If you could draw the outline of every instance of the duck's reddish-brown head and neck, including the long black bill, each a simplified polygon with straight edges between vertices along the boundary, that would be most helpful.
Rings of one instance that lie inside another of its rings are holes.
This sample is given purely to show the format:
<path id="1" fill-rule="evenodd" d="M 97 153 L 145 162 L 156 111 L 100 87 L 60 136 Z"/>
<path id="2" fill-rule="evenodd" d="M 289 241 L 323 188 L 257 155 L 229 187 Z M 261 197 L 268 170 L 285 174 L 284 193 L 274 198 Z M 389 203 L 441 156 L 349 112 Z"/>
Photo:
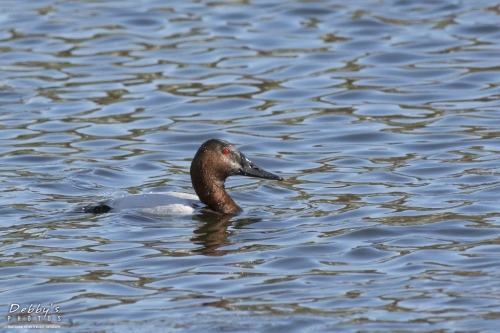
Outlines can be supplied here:
<path id="1" fill-rule="evenodd" d="M 224 140 L 205 141 L 191 163 L 191 181 L 200 200 L 211 209 L 225 214 L 241 208 L 224 189 L 226 178 L 234 175 L 283 180 L 250 161 L 242 152 Z"/>

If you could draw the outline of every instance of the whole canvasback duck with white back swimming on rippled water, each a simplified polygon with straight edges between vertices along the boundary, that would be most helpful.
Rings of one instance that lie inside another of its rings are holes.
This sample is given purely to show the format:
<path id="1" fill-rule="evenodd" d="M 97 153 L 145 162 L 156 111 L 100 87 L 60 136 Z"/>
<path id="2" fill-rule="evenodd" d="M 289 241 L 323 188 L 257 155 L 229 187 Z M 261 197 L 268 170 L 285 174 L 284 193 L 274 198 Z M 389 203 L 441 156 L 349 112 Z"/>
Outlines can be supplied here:
<path id="1" fill-rule="evenodd" d="M 191 162 L 191 182 L 197 196 L 179 192 L 130 195 L 82 208 L 85 213 L 107 213 L 121 209 L 136 209 L 158 215 L 191 214 L 200 202 L 222 214 L 237 214 L 241 207 L 224 188 L 226 178 L 234 175 L 283 180 L 263 170 L 227 141 L 205 141 Z"/>

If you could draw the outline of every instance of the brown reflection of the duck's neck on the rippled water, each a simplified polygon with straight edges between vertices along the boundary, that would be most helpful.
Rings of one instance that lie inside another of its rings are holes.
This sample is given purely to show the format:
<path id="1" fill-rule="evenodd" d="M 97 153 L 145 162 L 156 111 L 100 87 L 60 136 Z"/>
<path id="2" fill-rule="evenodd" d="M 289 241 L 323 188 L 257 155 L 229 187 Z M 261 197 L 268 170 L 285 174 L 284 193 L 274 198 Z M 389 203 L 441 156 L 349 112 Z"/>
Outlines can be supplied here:
<path id="1" fill-rule="evenodd" d="M 237 249 L 218 250 L 220 247 L 231 243 L 228 237 L 233 235 L 234 231 L 227 230 L 227 227 L 231 223 L 231 218 L 235 218 L 235 215 L 220 214 L 205 209 L 203 209 L 200 214 L 194 215 L 193 219 L 200 221 L 202 224 L 199 228 L 194 230 L 195 236 L 191 238 L 194 244 L 201 245 L 200 248 L 193 252 L 207 256 L 223 256 L 228 253 L 236 252 Z M 260 219 L 257 218 L 245 219 L 244 222 L 239 220 L 238 226 L 248 225 L 259 221 Z"/>

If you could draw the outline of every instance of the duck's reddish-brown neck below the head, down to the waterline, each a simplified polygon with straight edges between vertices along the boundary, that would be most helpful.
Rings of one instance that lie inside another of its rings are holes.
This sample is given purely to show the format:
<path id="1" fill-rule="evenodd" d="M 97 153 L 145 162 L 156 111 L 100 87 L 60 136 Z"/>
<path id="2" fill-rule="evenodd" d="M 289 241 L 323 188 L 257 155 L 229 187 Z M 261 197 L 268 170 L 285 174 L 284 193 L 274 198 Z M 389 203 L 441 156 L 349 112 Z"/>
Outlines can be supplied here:
<path id="1" fill-rule="evenodd" d="M 212 181 L 210 181 L 212 179 Z M 224 181 L 215 181 L 212 177 L 192 179 L 193 187 L 201 202 L 222 214 L 236 214 L 243 211 L 229 196 L 224 188 Z"/>

